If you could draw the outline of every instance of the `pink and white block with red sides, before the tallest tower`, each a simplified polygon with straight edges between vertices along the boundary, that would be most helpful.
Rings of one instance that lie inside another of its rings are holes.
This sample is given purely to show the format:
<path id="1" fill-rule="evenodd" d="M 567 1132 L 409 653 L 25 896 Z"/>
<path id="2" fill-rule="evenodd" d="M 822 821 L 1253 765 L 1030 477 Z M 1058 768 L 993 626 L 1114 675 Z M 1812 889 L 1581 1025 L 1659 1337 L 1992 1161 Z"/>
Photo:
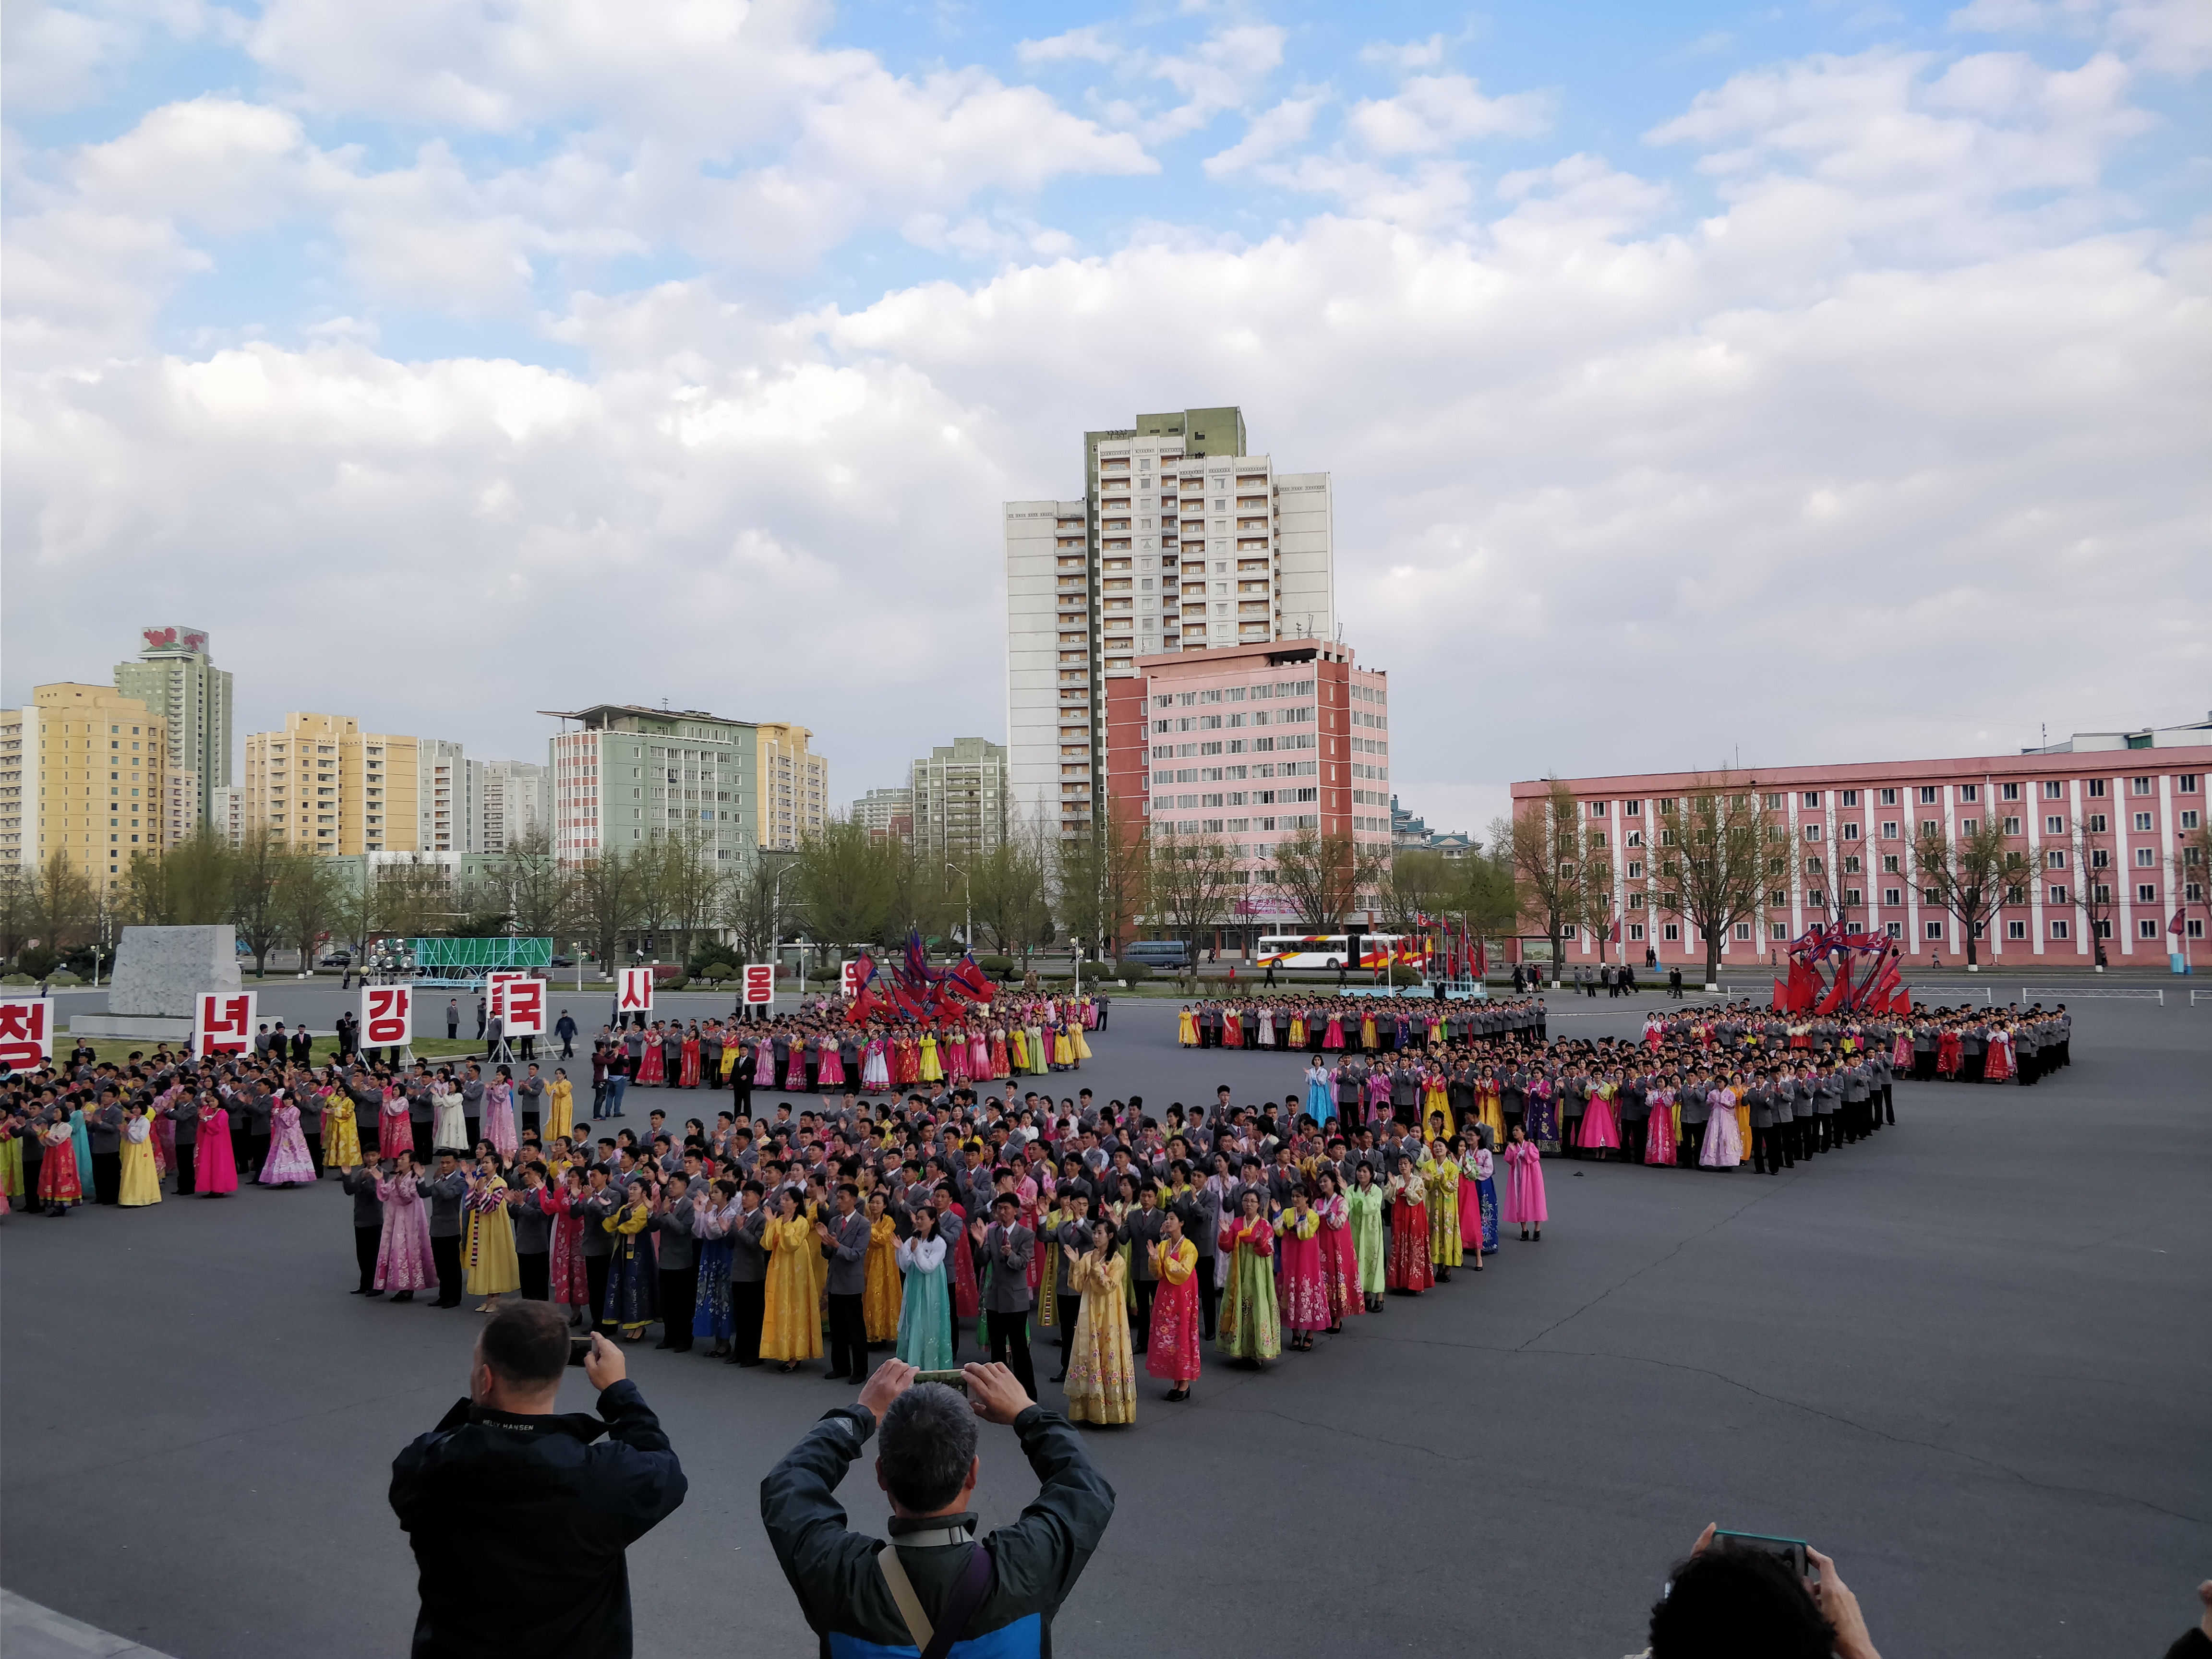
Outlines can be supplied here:
<path id="1" fill-rule="evenodd" d="M 1343 834 L 1389 858 L 1389 677 L 1360 668 L 1352 646 L 1144 657 L 1108 692 L 1115 810 L 1130 827 L 1219 836 L 1243 854 L 1252 920 L 1296 916 L 1267 876 L 1285 834 Z"/>

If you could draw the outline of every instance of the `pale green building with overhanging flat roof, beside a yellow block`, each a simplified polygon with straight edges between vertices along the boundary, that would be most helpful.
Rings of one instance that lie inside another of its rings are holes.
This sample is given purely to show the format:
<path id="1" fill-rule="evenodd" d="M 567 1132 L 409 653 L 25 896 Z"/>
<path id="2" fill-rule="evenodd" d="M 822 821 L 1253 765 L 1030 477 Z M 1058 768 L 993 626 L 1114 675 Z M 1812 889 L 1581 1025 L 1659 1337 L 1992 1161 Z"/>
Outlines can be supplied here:
<path id="1" fill-rule="evenodd" d="M 728 863 L 765 843 L 754 770 L 761 728 L 752 721 L 622 703 L 540 712 L 575 721 L 546 748 L 553 852 L 562 863 L 635 852 L 670 834 L 699 836 Z"/>

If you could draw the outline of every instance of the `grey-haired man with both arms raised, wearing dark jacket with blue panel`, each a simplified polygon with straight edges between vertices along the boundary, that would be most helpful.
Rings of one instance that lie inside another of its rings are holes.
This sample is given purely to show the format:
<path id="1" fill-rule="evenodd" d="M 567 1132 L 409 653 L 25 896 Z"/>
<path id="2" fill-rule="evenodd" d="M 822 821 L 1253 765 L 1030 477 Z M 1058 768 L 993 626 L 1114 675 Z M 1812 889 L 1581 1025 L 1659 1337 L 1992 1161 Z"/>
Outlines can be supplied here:
<path id="1" fill-rule="evenodd" d="M 1004 1365 L 962 1367 L 967 1398 L 885 1360 L 854 1405 L 832 1409 L 761 1482 L 761 1524 L 823 1655 L 958 1641 L 993 1655 L 1053 1650 L 1053 1615 L 1113 1520 L 1115 1493 L 1066 1418 L 1035 1405 Z M 1040 1491 L 1011 1526 L 975 1535 L 975 1420 L 1006 1425 Z M 836 1489 L 876 1438 L 891 1500 L 889 1544 L 849 1531 Z"/>

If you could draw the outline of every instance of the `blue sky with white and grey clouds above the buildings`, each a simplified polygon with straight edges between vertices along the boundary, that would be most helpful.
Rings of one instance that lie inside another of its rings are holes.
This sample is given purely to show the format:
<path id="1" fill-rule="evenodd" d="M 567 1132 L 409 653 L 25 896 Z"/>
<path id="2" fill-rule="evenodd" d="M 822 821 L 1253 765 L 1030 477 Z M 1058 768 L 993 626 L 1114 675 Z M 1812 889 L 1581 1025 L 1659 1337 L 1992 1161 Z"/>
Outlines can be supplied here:
<path id="1" fill-rule="evenodd" d="M 0 699 L 1004 739 L 1000 502 L 1234 403 L 1394 787 L 2212 710 L 2212 4 L 4 7 Z"/>

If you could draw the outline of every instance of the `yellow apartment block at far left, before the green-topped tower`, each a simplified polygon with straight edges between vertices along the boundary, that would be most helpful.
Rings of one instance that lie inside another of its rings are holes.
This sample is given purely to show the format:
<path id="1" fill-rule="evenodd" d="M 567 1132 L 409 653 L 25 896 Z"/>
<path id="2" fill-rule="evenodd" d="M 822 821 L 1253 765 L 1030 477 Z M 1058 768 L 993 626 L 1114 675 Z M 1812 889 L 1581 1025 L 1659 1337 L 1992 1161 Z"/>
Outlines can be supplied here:
<path id="1" fill-rule="evenodd" d="M 113 686 L 33 686 L 13 730 L 20 863 L 62 856 L 104 891 L 133 854 L 168 845 L 168 726 L 137 697 Z"/>

